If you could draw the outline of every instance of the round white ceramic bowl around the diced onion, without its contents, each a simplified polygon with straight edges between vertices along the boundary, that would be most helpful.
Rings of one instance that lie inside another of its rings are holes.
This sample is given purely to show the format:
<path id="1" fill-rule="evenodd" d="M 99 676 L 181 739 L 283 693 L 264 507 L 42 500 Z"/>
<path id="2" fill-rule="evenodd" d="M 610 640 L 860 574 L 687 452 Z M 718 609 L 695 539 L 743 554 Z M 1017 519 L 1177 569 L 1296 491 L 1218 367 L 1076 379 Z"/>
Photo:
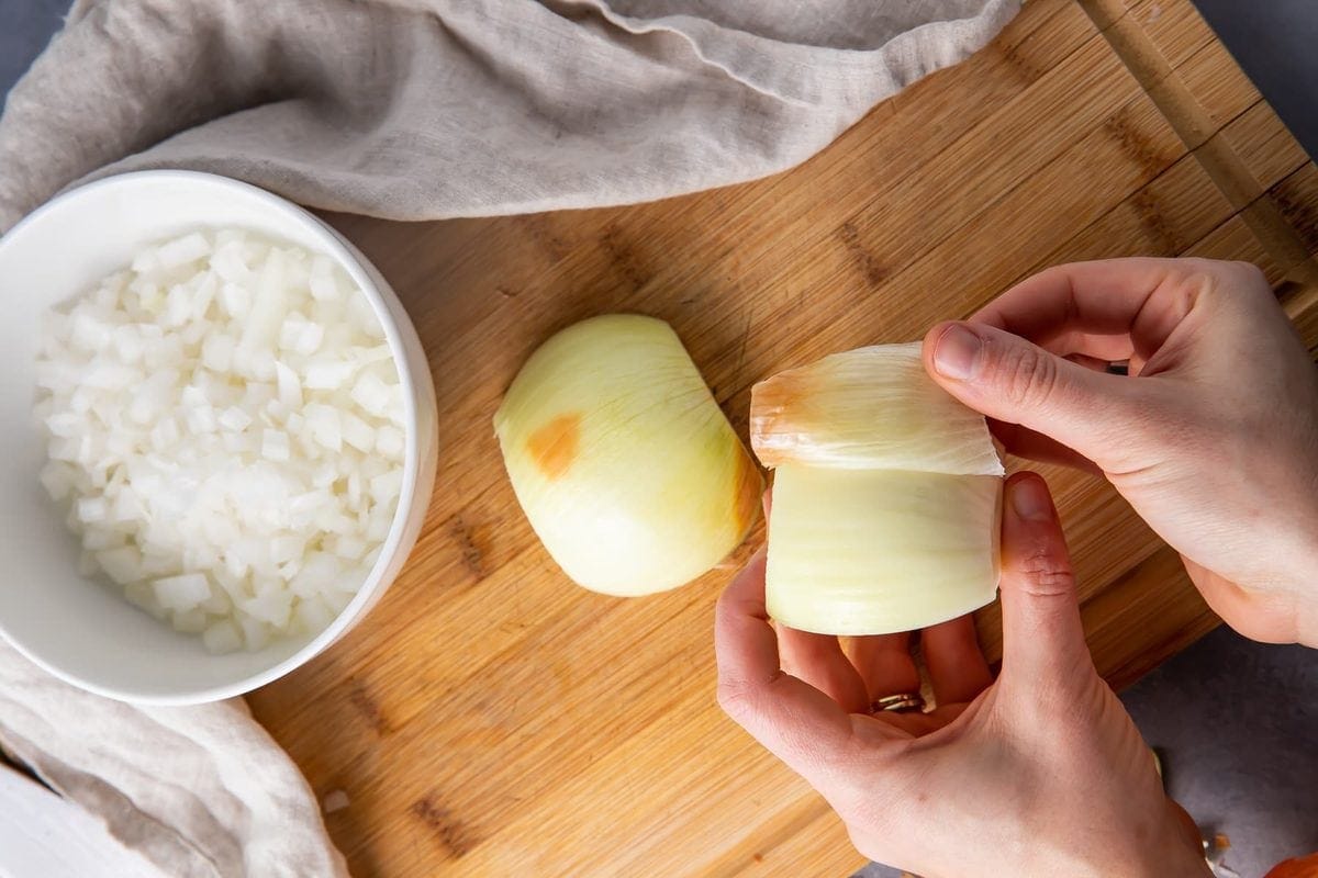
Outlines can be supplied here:
<path id="1" fill-rule="evenodd" d="M 45 440 L 32 416 L 41 315 L 130 262 L 141 247 L 199 228 L 243 228 L 333 258 L 370 297 L 407 403 L 403 487 L 393 529 L 361 591 L 315 637 L 211 656 L 108 587 L 78 575 L 78 544 L 37 480 Z M 142 171 L 54 199 L 0 238 L 0 633 L 82 688 L 129 702 L 195 704 L 287 674 L 361 620 L 397 577 L 430 503 L 436 412 L 426 354 L 380 272 L 333 229 L 264 190 L 211 174 Z"/>

